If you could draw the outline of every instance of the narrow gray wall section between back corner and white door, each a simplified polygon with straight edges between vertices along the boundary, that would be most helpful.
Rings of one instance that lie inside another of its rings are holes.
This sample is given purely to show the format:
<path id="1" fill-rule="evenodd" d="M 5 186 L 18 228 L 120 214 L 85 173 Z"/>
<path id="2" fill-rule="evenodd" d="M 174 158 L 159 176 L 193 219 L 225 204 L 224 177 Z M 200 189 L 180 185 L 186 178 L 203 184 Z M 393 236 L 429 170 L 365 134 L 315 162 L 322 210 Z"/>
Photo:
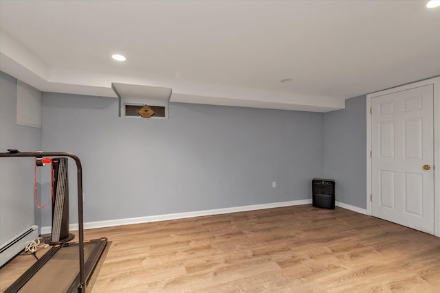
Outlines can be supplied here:
<path id="1" fill-rule="evenodd" d="M 366 209 L 366 96 L 323 116 L 323 176 L 336 180 L 336 200 Z"/>

